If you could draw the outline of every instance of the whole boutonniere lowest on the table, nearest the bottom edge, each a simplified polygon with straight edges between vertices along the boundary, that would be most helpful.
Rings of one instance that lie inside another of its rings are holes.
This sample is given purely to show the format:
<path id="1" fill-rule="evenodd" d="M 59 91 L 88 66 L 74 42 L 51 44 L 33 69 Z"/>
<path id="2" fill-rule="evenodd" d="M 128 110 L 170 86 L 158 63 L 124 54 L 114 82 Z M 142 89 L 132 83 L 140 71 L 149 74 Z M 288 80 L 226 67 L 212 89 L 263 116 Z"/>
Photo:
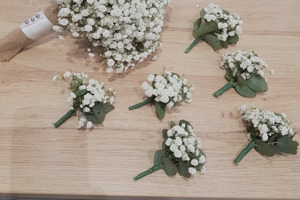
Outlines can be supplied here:
<path id="1" fill-rule="evenodd" d="M 201 140 L 195 138 L 192 125 L 186 120 L 175 124 L 171 128 L 163 129 L 163 147 L 154 154 L 153 167 L 140 173 L 133 179 L 136 181 L 159 169 L 163 169 L 168 176 L 177 172 L 185 178 L 191 174 L 205 173 L 206 156 L 201 150 Z"/>

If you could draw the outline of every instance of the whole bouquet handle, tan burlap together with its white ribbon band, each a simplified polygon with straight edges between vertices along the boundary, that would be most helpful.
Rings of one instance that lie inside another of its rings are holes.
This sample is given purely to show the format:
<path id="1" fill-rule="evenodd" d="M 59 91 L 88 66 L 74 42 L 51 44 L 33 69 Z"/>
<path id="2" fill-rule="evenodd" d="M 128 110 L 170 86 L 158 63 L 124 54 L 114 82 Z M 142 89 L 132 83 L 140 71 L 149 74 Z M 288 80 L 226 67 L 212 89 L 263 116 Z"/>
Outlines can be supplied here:
<path id="1" fill-rule="evenodd" d="M 12 59 L 35 38 L 58 23 L 58 4 L 54 4 L 25 20 L 20 27 L 0 39 L 0 61 Z M 46 24 L 47 23 L 47 24 Z"/>

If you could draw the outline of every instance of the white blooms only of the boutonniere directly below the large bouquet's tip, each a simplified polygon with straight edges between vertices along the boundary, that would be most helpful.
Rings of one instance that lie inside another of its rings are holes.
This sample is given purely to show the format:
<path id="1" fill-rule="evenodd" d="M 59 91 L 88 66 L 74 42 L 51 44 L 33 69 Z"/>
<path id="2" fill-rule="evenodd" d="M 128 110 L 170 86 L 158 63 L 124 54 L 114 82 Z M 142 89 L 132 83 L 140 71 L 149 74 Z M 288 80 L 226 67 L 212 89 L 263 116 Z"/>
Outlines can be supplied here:
<path id="1" fill-rule="evenodd" d="M 187 78 L 180 78 L 177 74 L 167 71 L 163 76 L 150 74 L 147 79 L 151 84 L 147 82 L 142 84 L 142 89 L 147 97 L 166 103 L 168 108 L 173 107 L 174 103 L 182 101 L 183 97 L 187 103 L 192 103 L 194 86 L 186 85 Z"/>

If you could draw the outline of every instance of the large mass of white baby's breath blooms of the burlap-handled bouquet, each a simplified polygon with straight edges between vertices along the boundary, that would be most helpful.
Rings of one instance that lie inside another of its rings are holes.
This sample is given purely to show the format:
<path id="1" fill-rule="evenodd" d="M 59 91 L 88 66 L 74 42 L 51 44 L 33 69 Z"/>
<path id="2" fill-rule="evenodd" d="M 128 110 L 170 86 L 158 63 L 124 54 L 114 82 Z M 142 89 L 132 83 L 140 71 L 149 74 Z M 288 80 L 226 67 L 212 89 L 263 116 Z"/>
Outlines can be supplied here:
<path id="1" fill-rule="evenodd" d="M 63 32 L 66 26 L 73 37 L 88 37 L 93 49 L 104 47 L 103 58 L 107 61 L 107 72 L 122 73 L 124 69 L 143 62 L 162 47 L 160 32 L 163 27 L 165 8 L 171 0 L 58 0 L 58 13 Z M 61 39 L 63 37 L 59 36 Z M 90 57 L 95 54 L 89 52 Z"/>

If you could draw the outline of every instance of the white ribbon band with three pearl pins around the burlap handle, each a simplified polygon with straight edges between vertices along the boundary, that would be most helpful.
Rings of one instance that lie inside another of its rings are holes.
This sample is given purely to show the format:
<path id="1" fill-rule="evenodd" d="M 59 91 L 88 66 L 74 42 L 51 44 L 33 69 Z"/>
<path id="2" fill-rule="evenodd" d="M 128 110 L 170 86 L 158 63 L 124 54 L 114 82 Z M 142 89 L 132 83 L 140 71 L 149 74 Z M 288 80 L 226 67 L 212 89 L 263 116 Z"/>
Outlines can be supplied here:
<path id="1" fill-rule="evenodd" d="M 34 19 L 34 21 L 31 19 Z M 51 30 L 53 27 L 53 24 L 47 19 L 43 10 L 27 19 L 25 22 L 23 22 L 19 28 L 32 40 L 41 36 L 44 32 Z"/>

